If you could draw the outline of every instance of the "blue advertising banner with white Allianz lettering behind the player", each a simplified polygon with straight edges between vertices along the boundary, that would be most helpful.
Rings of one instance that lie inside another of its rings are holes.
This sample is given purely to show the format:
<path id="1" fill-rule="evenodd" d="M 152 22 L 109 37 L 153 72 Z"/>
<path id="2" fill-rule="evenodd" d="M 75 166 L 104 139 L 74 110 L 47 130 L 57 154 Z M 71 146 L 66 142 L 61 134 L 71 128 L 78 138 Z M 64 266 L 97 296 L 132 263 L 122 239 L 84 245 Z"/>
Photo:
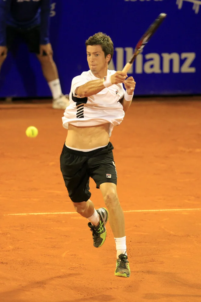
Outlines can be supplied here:
<path id="1" fill-rule="evenodd" d="M 50 38 L 63 93 L 69 93 L 73 77 L 89 69 L 89 36 L 102 31 L 111 37 L 115 52 L 109 69 L 122 70 L 149 25 L 167 13 L 129 70 L 135 95 L 201 94 L 200 5 L 199 0 L 56 0 Z M 39 62 L 20 44 L 2 66 L 0 97 L 50 95 Z"/>

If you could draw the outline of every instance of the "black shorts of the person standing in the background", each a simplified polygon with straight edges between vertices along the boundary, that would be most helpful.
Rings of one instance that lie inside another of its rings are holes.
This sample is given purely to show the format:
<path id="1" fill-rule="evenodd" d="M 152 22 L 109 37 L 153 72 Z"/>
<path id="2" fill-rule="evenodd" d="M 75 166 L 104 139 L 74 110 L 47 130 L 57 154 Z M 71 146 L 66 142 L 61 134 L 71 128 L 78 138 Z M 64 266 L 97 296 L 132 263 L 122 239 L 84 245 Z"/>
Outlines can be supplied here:
<path id="1" fill-rule="evenodd" d="M 28 46 L 30 52 L 40 53 L 40 25 L 31 28 L 19 28 L 13 26 L 6 27 L 6 46 L 8 50 L 16 38 L 21 38 Z"/>

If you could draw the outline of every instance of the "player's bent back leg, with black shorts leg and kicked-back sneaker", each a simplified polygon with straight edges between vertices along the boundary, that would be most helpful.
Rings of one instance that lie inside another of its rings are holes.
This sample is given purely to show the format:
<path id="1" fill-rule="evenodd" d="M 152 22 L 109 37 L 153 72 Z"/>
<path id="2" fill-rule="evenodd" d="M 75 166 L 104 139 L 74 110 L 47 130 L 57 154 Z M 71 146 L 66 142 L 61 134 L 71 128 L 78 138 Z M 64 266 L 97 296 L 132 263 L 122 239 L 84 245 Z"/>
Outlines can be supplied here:
<path id="1" fill-rule="evenodd" d="M 77 213 L 87 218 L 88 226 L 92 231 L 93 245 L 100 247 L 106 238 L 105 224 L 108 220 L 106 209 L 94 209 L 89 199 L 89 174 L 87 161 L 89 152 L 81 152 L 67 148 L 65 145 L 60 156 L 60 167 L 69 197 Z"/>

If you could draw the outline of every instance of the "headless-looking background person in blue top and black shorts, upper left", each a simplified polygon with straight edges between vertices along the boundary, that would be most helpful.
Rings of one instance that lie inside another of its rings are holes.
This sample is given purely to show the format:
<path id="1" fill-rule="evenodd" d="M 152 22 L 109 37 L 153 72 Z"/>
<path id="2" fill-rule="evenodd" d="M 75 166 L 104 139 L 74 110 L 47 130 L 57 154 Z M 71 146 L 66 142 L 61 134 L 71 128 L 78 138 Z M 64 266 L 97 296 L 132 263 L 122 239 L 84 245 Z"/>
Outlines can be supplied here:
<path id="1" fill-rule="evenodd" d="M 15 38 L 21 36 L 39 59 L 50 87 L 55 109 L 64 109 L 69 99 L 62 94 L 49 41 L 51 0 L 0 0 L 0 68 Z"/>

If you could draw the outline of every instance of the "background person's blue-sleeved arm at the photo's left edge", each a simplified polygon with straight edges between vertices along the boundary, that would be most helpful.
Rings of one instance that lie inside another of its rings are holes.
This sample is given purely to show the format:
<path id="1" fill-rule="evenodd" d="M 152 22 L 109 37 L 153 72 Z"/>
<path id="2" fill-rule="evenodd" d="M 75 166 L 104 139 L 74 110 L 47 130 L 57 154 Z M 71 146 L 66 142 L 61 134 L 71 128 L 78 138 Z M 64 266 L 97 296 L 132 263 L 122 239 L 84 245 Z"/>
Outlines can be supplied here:
<path id="1" fill-rule="evenodd" d="M 11 5 L 11 0 L 0 0 L 0 56 L 6 56 L 6 18 Z"/>

